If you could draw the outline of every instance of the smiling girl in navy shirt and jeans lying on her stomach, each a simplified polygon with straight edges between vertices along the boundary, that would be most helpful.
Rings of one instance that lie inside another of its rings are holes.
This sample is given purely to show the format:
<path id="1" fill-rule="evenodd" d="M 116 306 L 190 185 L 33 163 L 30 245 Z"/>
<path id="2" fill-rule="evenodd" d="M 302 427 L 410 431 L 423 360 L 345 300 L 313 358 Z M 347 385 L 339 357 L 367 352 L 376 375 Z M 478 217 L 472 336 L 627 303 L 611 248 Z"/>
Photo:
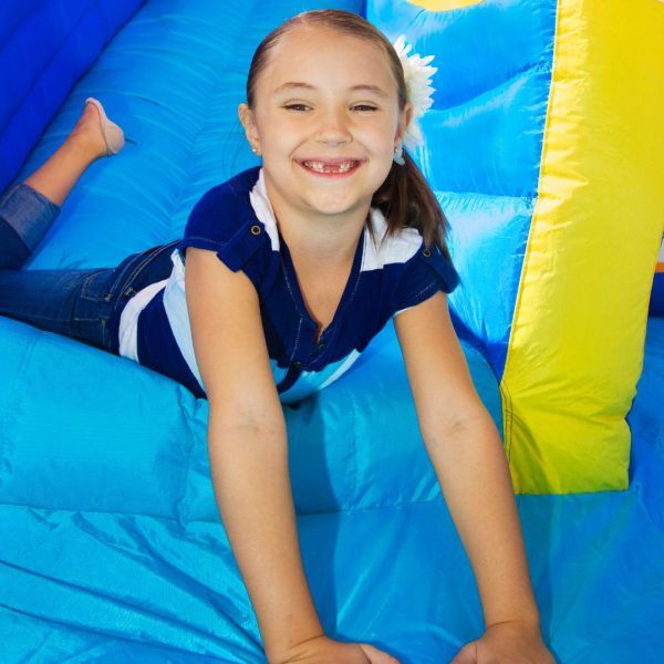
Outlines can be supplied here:
<path id="1" fill-rule="evenodd" d="M 354 14 L 300 14 L 259 45 L 239 116 L 262 167 L 208 191 L 181 241 L 114 270 L 10 271 L 84 168 L 122 147 L 121 129 L 91 100 L 0 209 L 0 313 L 207 396 L 215 492 L 268 660 L 349 664 L 395 660 L 322 631 L 300 560 L 281 402 L 335 380 L 394 317 L 485 614 L 485 634 L 454 662 L 552 662 L 500 438 L 449 321 L 445 292 L 457 276 L 443 215 L 403 153 L 413 105 L 397 53 Z"/>

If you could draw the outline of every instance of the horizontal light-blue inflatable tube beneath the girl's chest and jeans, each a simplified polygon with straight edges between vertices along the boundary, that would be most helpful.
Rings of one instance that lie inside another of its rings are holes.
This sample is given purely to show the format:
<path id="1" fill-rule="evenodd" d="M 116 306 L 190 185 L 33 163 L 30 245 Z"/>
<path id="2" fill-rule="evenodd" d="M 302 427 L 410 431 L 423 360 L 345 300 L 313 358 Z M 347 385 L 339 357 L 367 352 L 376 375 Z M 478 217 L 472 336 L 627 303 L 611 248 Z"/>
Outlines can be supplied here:
<path id="1" fill-rule="evenodd" d="M 135 362 L 15 321 L 0 319 L 0 333 L 11 376 L 0 386 L 0 502 L 218 522 L 206 401 Z M 467 349 L 467 355 L 499 422 L 491 373 L 479 353 Z M 365 369 L 353 367 L 339 386 L 284 409 L 300 513 L 372 509 L 439 492 L 392 325 L 356 364 Z M 23 381 L 29 393 L 17 391 Z M 404 404 L 398 422 L 378 419 L 380 404 Z M 394 463 L 397 457 L 403 461 Z M 347 474 L 334 470 L 344 467 Z"/>

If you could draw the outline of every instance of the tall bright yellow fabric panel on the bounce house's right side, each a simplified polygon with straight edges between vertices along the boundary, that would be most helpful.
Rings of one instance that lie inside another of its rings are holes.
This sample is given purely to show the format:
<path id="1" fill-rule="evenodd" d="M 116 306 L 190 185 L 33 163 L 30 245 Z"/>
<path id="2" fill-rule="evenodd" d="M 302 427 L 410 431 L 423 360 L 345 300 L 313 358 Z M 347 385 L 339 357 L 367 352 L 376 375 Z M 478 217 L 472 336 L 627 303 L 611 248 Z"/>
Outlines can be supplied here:
<path id="1" fill-rule="evenodd" d="M 627 486 L 664 227 L 664 3 L 559 0 L 539 198 L 501 382 L 519 492 Z"/>

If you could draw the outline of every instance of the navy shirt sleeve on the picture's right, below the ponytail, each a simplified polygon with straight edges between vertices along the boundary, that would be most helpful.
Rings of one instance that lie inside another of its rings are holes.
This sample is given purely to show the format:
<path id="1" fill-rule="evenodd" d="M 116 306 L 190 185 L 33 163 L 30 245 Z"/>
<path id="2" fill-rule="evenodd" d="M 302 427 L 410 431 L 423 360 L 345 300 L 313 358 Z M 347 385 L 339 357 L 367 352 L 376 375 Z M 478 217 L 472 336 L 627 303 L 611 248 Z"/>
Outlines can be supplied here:
<path id="1" fill-rule="evenodd" d="M 442 290 L 450 293 L 459 284 L 459 276 L 437 247 L 426 249 L 424 242 L 408 260 L 396 291 L 394 314 L 424 302 Z"/>

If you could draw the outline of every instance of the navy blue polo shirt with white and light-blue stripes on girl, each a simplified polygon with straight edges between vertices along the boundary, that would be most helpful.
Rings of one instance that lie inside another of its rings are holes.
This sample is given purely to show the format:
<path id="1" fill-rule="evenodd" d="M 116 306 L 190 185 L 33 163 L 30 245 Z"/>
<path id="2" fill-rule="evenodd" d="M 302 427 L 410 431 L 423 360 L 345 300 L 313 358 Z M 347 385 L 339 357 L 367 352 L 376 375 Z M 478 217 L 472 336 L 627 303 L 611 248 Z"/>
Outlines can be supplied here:
<path id="1" fill-rule="evenodd" d="M 205 396 L 187 314 L 184 249 L 207 249 L 256 288 L 281 401 L 304 398 L 345 373 L 393 315 L 458 283 L 453 264 L 438 250 L 426 251 L 416 229 L 387 236 L 385 218 L 373 208 L 369 224 L 373 234 L 369 226 L 362 231 L 334 319 L 317 340 L 319 325 L 304 305 L 262 172 L 252 168 L 214 187 L 191 211 L 170 277 L 139 291 L 123 311 L 121 354 Z"/>

